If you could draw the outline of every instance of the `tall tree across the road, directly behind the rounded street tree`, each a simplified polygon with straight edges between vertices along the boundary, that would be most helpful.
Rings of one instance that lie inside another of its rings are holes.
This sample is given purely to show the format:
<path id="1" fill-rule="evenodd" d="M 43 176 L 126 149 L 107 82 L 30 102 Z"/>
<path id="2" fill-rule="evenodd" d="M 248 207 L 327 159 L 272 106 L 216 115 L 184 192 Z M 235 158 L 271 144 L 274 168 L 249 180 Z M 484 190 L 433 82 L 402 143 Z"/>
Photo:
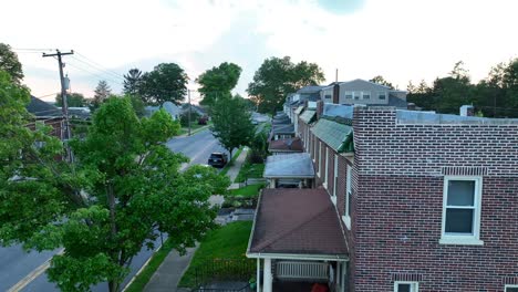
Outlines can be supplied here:
<path id="1" fill-rule="evenodd" d="M 201 73 L 196 79 L 201 85 L 198 91 L 204 96 L 200 104 L 210 107 L 218 98 L 230 97 L 230 91 L 236 87 L 240 74 L 240 66 L 227 62 Z"/>

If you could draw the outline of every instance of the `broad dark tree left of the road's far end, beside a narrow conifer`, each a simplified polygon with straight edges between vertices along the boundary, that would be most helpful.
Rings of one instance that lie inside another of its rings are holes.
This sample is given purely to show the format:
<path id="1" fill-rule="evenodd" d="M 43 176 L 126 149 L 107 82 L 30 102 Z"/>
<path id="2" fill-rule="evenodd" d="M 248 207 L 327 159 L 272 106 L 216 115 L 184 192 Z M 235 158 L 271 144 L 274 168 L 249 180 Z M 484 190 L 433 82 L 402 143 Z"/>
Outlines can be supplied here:
<path id="1" fill-rule="evenodd" d="M 142 76 L 141 95 L 145 104 L 162 105 L 172 102 L 179 105 L 187 94 L 189 77 L 185 71 L 175 63 L 162 63 L 152 72 Z"/>

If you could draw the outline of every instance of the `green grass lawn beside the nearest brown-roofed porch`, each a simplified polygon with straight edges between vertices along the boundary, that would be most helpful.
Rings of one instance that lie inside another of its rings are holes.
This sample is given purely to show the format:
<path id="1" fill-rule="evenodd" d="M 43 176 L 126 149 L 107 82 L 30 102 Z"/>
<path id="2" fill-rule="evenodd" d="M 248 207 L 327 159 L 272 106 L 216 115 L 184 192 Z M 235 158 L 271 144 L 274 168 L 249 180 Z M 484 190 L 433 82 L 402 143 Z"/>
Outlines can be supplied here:
<path id="1" fill-rule="evenodd" d="M 246 259 L 251 227 L 251 221 L 237 221 L 208 232 L 178 285 L 194 288 L 196 269 L 215 259 Z"/>

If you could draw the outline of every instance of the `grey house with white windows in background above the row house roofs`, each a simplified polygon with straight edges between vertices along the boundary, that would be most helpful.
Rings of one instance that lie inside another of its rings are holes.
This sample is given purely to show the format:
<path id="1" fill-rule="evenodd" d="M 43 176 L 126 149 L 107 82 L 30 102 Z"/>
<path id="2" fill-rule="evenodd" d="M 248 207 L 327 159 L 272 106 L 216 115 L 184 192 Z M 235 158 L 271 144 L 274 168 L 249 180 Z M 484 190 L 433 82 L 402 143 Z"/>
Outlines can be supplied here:
<path id="1" fill-rule="evenodd" d="M 349 82 L 333 82 L 322 87 L 320 100 L 334 104 L 364 104 L 370 106 L 394 106 L 406 109 L 406 92 L 385 85 L 356 79 Z"/>

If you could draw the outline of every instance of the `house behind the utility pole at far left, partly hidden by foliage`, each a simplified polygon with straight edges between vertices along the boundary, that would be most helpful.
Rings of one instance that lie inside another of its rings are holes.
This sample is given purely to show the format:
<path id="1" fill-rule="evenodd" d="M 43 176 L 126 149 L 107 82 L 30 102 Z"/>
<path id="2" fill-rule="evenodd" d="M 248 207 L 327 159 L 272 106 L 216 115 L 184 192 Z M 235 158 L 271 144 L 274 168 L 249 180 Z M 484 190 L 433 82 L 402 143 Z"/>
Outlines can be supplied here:
<path id="1" fill-rule="evenodd" d="M 60 108 L 34 96 L 31 96 L 31 102 L 25 108 L 34 116 L 33 122 L 29 124 L 29 128 L 35 129 L 35 123 L 40 122 L 52 127 L 50 133 L 52 136 L 60 139 L 65 137 L 65 133 L 63 132 L 64 118 Z"/>

